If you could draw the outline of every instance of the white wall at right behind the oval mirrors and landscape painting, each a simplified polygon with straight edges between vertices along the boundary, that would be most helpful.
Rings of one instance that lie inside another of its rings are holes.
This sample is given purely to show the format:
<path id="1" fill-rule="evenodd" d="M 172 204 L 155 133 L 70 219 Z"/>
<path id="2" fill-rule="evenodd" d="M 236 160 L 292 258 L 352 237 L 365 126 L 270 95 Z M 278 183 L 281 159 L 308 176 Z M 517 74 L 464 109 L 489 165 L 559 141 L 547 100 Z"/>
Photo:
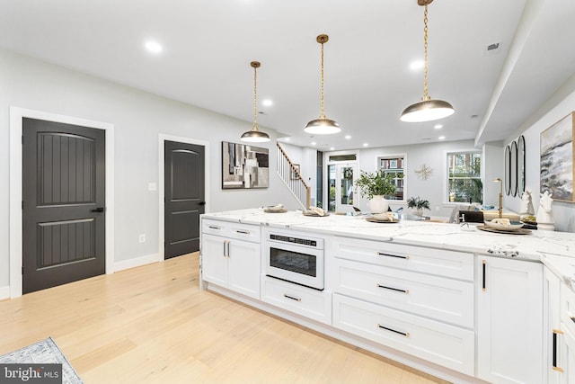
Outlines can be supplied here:
<path id="1" fill-rule="evenodd" d="M 560 121 L 569 113 L 575 111 L 575 76 L 565 83 L 558 92 L 550 99 L 544 108 L 537 112 L 537 120 L 523 131 L 517 131 L 513 136 L 506 138 L 505 144 L 516 140 L 523 135 L 526 142 L 526 188 L 533 193 L 533 205 L 535 212 L 539 207 L 539 160 L 540 160 L 540 135 L 545 129 Z M 504 207 L 519 211 L 521 199 L 519 196 L 504 196 Z M 553 201 L 553 219 L 555 230 L 563 232 L 575 232 L 575 204 L 566 201 Z"/>

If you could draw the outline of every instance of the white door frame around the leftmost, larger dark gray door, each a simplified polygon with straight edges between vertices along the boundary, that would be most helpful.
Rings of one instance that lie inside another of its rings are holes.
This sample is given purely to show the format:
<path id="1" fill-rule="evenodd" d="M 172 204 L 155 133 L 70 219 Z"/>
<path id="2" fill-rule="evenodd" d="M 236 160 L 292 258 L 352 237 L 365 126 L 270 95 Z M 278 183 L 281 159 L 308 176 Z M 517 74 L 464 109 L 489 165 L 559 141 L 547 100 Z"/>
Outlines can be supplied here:
<path id="1" fill-rule="evenodd" d="M 10 298 L 22 296 L 22 119 L 106 130 L 106 273 L 114 272 L 114 125 L 56 113 L 10 107 Z"/>

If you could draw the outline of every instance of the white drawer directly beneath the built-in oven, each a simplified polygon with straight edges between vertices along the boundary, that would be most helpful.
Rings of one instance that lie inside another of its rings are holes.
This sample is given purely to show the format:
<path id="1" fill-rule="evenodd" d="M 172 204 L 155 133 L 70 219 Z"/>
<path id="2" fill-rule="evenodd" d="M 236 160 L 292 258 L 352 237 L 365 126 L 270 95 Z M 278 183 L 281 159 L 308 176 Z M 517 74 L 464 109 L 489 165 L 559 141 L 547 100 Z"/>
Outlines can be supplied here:
<path id="1" fill-rule="evenodd" d="M 312 290 L 262 275 L 261 301 L 324 324 L 332 324 L 332 294 L 325 290 Z"/>

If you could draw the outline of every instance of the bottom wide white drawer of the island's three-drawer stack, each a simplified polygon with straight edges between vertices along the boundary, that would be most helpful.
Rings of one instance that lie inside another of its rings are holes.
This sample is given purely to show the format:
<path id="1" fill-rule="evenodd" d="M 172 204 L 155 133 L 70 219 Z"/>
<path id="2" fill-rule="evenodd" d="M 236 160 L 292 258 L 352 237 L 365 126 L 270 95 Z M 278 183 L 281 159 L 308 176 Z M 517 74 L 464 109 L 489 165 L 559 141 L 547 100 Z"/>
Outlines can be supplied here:
<path id="1" fill-rule="evenodd" d="M 333 294 L 333 326 L 369 341 L 474 374 L 473 331 Z"/>

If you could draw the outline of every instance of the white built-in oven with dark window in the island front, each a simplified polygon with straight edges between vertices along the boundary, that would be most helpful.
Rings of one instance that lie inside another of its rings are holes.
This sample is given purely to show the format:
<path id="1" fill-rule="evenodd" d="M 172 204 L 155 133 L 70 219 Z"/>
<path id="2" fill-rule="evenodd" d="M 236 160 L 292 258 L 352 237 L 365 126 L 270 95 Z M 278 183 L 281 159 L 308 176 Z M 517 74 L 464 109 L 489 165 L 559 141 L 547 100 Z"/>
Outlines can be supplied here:
<path id="1" fill-rule="evenodd" d="M 267 276 L 323 290 L 323 238 L 269 232 L 263 253 Z"/>

